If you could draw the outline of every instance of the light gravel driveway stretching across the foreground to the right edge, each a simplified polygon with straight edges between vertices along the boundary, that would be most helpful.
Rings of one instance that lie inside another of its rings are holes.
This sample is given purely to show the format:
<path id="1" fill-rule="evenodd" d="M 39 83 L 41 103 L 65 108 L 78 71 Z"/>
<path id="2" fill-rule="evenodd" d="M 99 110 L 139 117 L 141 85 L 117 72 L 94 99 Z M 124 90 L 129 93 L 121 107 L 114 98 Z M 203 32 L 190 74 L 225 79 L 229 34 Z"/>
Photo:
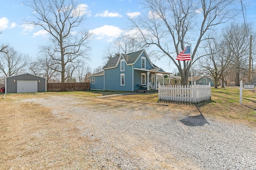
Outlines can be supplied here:
<path id="1" fill-rule="evenodd" d="M 90 169 L 256 169 L 255 127 L 207 118 L 200 111 L 186 116 L 166 106 L 94 100 L 100 103 L 72 95 L 21 102 L 50 107 L 56 119 L 66 118 L 81 137 L 94 141 L 84 156 L 94 160 Z M 78 162 L 71 169 L 82 168 Z"/>

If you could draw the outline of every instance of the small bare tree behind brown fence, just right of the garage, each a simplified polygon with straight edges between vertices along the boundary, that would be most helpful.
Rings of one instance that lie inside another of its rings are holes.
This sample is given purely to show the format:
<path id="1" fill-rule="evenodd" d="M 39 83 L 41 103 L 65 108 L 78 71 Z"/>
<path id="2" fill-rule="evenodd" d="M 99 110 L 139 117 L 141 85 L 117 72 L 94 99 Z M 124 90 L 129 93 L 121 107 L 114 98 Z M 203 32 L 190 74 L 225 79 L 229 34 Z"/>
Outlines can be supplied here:
<path id="1" fill-rule="evenodd" d="M 60 65 L 56 64 L 49 55 L 44 53 L 30 63 L 29 68 L 35 75 L 42 76 L 46 78 L 46 82 L 49 82 L 50 79 L 57 77 L 58 72 L 56 70 L 60 69 Z"/>

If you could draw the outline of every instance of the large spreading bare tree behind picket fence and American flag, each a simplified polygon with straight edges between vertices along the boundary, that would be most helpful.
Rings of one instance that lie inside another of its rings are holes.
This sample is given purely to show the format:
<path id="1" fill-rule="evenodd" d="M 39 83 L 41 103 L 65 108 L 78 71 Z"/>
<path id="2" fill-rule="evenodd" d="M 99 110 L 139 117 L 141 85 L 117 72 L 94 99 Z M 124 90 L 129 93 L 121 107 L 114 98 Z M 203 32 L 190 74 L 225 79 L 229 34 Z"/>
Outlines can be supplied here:
<path id="1" fill-rule="evenodd" d="M 191 61 L 177 61 L 178 53 L 193 43 L 191 60 L 202 41 L 210 39 L 206 33 L 238 14 L 236 0 L 144 0 L 148 14 L 130 18 L 144 40 L 145 47 L 158 47 L 158 59 L 168 56 L 181 74 L 181 83 L 187 84 Z"/>

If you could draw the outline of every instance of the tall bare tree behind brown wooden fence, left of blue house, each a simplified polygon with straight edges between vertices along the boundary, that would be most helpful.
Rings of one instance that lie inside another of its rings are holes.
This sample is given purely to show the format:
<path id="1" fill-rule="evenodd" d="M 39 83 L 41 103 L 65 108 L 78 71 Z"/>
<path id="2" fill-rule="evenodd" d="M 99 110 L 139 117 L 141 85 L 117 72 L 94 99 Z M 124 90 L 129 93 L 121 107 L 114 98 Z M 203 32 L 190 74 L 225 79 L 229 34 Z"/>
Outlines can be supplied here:
<path id="1" fill-rule="evenodd" d="M 89 59 L 88 41 L 91 34 L 86 30 L 76 32 L 85 19 L 85 9 L 74 0 L 30 0 L 25 4 L 34 11 L 36 21 L 26 23 L 42 27 L 50 34 L 50 45 L 43 46 L 52 60 L 61 66 L 61 82 L 65 82 L 65 67 L 79 57 Z M 76 33 L 74 33 L 76 32 Z"/>

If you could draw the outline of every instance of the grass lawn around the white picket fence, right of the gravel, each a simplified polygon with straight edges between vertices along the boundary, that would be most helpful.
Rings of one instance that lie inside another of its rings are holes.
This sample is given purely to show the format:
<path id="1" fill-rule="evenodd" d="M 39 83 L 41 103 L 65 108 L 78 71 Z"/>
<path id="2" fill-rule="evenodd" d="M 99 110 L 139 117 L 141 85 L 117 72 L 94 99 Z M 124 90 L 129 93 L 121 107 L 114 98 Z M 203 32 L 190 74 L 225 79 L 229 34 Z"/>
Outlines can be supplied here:
<path id="1" fill-rule="evenodd" d="M 202 114 L 219 118 L 228 118 L 235 121 L 246 121 L 256 125 L 256 91 L 243 90 L 242 104 L 240 105 L 240 90 L 237 87 L 228 88 L 212 88 L 212 100 L 198 103 L 177 103 L 158 101 L 158 93 L 144 93 L 127 96 L 116 96 L 111 99 L 150 102 L 150 103 L 166 103 L 170 107 L 182 107 L 189 109 L 188 106 L 195 106 Z M 176 105 L 179 106 L 176 106 Z M 186 107 L 187 106 L 187 107 Z"/>

